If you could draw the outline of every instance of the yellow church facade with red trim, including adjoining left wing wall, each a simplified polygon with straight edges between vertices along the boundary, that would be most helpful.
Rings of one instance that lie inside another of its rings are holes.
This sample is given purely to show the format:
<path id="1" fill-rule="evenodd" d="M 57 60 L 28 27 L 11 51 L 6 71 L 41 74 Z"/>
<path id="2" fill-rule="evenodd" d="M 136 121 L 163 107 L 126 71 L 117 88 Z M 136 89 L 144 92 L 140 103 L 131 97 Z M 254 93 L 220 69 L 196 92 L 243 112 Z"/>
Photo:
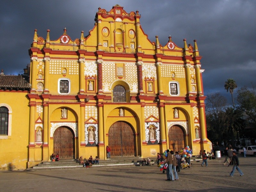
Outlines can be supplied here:
<path id="1" fill-rule="evenodd" d="M 0 90 L 0 114 L 8 116 L 2 169 L 26 169 L 52 154 L 106 159 L 106 146 L 111 158 L 211 150 L 196 40 L 151 42 L 140 17 L 119 5 L 99 8 L 89 35 L 75 40 L 66 28 L 57 40 L 35 29 L 29 90 Z"/>

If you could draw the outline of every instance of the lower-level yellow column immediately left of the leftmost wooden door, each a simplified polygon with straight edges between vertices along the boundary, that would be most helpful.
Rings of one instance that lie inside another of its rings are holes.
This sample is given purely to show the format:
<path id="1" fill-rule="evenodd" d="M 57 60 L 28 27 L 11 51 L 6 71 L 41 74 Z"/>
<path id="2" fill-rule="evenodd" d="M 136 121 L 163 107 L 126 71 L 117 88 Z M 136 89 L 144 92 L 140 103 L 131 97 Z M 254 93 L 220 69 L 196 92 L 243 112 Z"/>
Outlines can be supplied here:
<path id="1" fill-rule="evenodd" d="M 48 144 L 48 103 L 44 102 L 44 116 L 43 116 L 43 125 L 44 125 L 44 136 L 43 136 L 43 160 L 48 161 L 50 160 L 50 152 L 49 144 Z"/>

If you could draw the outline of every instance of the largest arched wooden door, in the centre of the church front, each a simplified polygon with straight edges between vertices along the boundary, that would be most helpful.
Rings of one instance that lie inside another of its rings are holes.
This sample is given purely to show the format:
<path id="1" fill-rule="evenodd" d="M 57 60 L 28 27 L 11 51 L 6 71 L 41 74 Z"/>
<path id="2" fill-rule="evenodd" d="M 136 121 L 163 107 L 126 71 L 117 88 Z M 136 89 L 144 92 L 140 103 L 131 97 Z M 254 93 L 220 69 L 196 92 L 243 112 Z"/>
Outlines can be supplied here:
<path id="1" fill-rule="evenodd" d="M 111 156 L 135 156 L 135 138 L 131 125 L 117 121 L 108 131 Z"/>

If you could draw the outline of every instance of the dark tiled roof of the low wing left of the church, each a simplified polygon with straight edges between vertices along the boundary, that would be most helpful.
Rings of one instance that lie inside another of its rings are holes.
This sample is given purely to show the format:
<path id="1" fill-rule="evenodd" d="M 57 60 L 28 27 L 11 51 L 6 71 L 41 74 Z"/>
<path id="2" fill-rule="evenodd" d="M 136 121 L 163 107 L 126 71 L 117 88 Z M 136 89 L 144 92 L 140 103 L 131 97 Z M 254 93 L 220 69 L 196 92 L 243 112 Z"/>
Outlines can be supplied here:
<path id="1" fill-rule="evenodd" d="M 0 76 L 0 89 L 30 90 L 31 84 L 22 75 Z"/>

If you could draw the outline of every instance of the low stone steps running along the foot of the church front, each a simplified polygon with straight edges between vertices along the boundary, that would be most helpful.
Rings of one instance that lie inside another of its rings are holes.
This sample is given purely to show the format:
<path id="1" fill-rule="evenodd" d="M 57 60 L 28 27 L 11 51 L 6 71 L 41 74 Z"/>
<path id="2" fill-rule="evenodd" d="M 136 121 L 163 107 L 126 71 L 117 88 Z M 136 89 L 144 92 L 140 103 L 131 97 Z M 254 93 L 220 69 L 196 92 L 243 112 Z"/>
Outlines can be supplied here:
<path id="1" fill-rule="evenodd" d="M 147 158 L 145 158 L 147 160 Z M 156 157 L 150 157 L 151 165 L 156 164 Z M 100 164 L 93 164 L 92 167 L 107 167 L 107 166 L 140 166 L 143 158 L 141 157 L 113 157 L 107 160 L 100 160 Z M 83 165 L 76 163 L 76 159 L 60 159 L 56 162 L 42 162 L 27 170 L 38 169 L 66 169 L 66 168 L 84 168 Z"/>

